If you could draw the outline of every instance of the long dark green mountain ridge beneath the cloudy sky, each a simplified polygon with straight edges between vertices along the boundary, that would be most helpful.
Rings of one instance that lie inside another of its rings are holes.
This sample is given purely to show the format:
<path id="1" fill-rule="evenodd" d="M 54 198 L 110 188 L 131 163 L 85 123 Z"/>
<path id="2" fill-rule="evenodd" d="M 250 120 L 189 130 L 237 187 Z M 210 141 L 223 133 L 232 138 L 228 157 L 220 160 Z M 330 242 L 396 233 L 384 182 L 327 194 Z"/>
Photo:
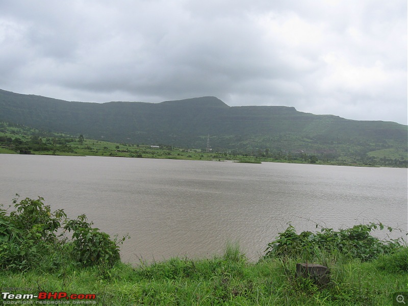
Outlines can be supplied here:
<path id="1" fill-rule="evenodd" d="M 348 120 L 284 106 L 230 107 L 207 96 L 162 103 L 64 101 L 0 90 L 0 121 L 124 143 L 241 152 L 308 152 L 328 158 L 406 159 L 407 126 Z M 373 153 L 374 152 L 374 153 Z"/>

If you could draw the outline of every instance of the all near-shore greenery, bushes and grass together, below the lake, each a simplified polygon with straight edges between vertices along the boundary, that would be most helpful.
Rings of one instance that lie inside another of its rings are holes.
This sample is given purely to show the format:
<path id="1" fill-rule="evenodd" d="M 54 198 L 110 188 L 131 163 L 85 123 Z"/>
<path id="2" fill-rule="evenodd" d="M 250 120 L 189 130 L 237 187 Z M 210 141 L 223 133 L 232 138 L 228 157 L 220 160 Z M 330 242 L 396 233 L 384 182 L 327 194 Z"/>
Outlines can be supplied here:
<path id="1" fill-rule="evenodd" d="M 51 212 L 42 198 L 16 199 L 14 208 L 0 210 L 0 282 L 15 293 L 89 293 L 98 305 L 390 305 L 408 291 L 408 249 L 373 237 L 393 230 L 381 223 L 300 234 L 289 226 L 256 263 L 228 243 L 210 259 L 131 266 L 118 258 L 125 237 L 110 239 L 85 216 Z M 299 262 L 327 266 L 329 283 L 297 277 Z"/>

